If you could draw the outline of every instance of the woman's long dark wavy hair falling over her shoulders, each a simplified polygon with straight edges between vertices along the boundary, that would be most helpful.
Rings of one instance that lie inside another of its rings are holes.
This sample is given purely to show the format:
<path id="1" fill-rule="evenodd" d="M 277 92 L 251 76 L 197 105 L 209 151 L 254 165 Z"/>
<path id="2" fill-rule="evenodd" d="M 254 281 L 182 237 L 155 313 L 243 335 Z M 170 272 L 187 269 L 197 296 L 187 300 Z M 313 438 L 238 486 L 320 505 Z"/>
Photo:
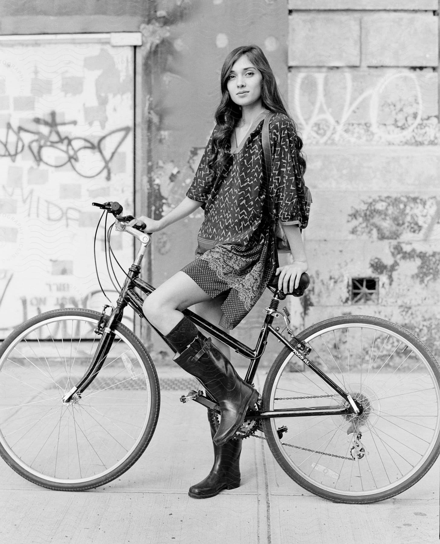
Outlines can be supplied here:
<path id="1" fill-rule="evenodd" d="M 258 45 L 245 45 L 236 47 L 225 58 L 220 75 L 220 89 L 222 99 L 216 109 L 215 120 L 217 130 L 212 137 L 212 154 L 208 159 L 208 178 L 209 181 L 222 175 L 227 168 L 230 160 L 229 141 L 232 131 L 234 130 L 237 121 L 241 119 L 241 107 L 231 100 L 228 91 L 228 77 L 235 62 L 242 56 L 246 55 L 250 62 L 261 72 L 261 104 L 264 108 L 274 113 L 284 113 L 292 121 L 295 127 L 296 139 L 295 148 L 298 156 L 298 163 L 302 172 L 305 172 L 306 164 L 302 156 L 301 149 L 303 141 L 297 133 L 297 125 L 287 112 L 283 98 L 279 92 L 275 76 L 273 75 L 270 64 L 267 61 L 266 55 L 262 52 Z"/>

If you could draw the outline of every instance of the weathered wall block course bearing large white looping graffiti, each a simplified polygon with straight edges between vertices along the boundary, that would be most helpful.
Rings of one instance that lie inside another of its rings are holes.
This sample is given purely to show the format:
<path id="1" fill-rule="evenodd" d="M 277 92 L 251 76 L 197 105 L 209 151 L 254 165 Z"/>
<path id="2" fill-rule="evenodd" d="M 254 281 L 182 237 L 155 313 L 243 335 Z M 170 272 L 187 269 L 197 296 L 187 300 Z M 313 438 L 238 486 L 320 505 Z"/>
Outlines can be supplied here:
<path id="1" fill-rule="evenodd" d="M 430 69 L 300 71 L 291 85 L 295 120 L 308 144 L 436 145 L 436 78 Z"/>

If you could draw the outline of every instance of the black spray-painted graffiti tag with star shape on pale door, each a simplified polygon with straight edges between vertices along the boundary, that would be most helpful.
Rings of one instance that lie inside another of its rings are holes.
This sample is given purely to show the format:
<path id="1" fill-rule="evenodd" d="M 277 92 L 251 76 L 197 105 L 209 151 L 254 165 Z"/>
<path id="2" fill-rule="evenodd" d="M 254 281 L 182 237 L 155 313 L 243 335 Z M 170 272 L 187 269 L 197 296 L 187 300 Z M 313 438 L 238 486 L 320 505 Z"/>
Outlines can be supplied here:
<path id="1" fill-rule="evenodd" d="M 54 111 L 50 112 L 50 120 L 36 117 L 33 122 L 41 129 L 34 131 L 22 126 L 14 129 L 11 123 L 7 123 L 4 141 L 0 138 L 0 157 L 9 157 L 12 162 L 15 162 L 16 157 L 27 146 L 37 165 L 43 163 L 53 168 L 60 168 L 70 164 L 78 175 L 86 178 L 96 177 L 102 171 L 106 171 L 107 181 L 111 179 L 110 163 L 131 131 L 129 126 L 115 128 L 103 135 L 95 144 L 87 138 L 63 136 L 60 133 L 60 127 L 76 125 L 76 121 L 58 122 Z M 26 143 L 23 139 L 25 134 L 32 134 L 35 138 Z M 109 150 L 106 149 L 104 152 L 103 147 L 108 147 Z M 96 156 L 99 157 L 98 163 Z M 94 158 L 95 171 L 90 175 L 85 173 L 85 165 L 90 170 L 90 162 L 87 159 L 91 157 Z"/>

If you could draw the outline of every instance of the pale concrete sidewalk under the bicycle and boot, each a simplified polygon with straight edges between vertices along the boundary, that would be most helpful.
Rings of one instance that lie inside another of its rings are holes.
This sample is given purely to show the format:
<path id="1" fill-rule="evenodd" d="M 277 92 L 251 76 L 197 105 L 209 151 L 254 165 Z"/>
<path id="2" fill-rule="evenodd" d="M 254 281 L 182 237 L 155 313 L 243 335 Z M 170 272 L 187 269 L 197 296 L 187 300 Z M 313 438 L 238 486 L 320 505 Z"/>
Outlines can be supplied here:
<path id="1" fill-rule="evenodd" d="M 187 379 L 179 368 L 159 372 Z M 261 391 L 264 374 L 257 376 Z M 242 485 L 196 500 L 188 487 L 212 466 L 206 410 L 161 392 L 157 429 L 142 458 L 119 480 L 69 493 L 33 485 L 0 463 L 0 544 L 437 542 L 439 462 L 410 490 L 381 503 L 334 504 L 304 491 L 279 468 L 265 441 L 248 438 Z"/>

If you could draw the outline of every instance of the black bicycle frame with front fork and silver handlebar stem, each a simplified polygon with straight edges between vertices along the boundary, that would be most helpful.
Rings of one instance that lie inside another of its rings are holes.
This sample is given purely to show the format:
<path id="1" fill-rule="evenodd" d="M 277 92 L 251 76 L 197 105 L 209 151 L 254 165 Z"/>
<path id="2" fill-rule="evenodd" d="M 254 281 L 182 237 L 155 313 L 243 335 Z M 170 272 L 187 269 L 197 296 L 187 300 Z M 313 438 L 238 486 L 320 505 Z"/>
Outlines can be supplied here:
<path id="1" fill-rule="evenodd" d="M 135 236 L 141 242 L 141 247 L 138 251 L 138 254 L 135 258 L 135 262 L 129 268 L 129 272 L 126 274 L 125 282 L 123 288 L 121 289 L 120 296 L 117 300 L 116 306 L 113 308 L 112 312 L 107 316 L 105 314 L 105 308 L 101 315 L 101 320 L 98 326 L 95 329 L 95 332 L 102 334 L 100 342 L 97 346 L 93 360 L 90 362 L 88 369 L 85 371 L 82 379 L 74 386 L 72 389 L 66 393 L 63 397 L 63 401 L 68 403 L 71 401 L 74 394 L 81 395 L 81 393 L 91 384 L 95 379 L 96 375 L 99 373 L 99 370 L 102 368 L 103 363 L 107 357 L 107 354 L 111 348 L 111 345 L 114 340 L 113 326 L 120 322 L 123 316 L 124 308 L 127 305 L 130 305 L 133 310 L 143 319 L 145 319 L 144 313 L 142 311 L 143 299 L 136 293 L 135 289 L 141 290 L 144 294 L 151 294 L 155 288 L 149 283 L 143 281 L 139 278 L 140 274 L 140 263 L 142 258 L 145 255 L 147 246 L 150 244 L 150 237 L 148 234 L 139 232 L 132 227 L 125 227 L 123 230 L 126 230 L 132 236 Z M 272 289 L 271 289 L 272 290 Z M 304 364 L 313 370 L 320 378 L 325 381 L 335 392 L 337 392 L 343 399 L 346 401 L 346 406 L 344 408 L 334 407 L 334 406 L 319 406 L 319 407 L 306 407 L 306 408 L 295 408 L 290 410 L 271 410 L 271 411 L 251 411 L 253 419 L 267 419 L 273 417 L 301 417 L 301 416 L 325 416 L 325 415 L 350 415 L 353 413 L 359 414 L 362 410 L 362 407 L 351 397 L 350 394 L 347 394 L 343 389 L 341 389 L 337 384 L 335 384 L 328 376 L 322 372 L 321 369 L 316 367 L 313 362 L 309 361 L 308 358 L 301 353 L 301 349 L 304 351 L 305 346 L 299 341 L 295 336 L 292 336 L 292 341 L 296 343 L 292 345 L 288 339 L 286 339 L 282 334 L 278 332 L 272 326 L 274 319 L 274 314 L 278 308 L 280 300 L 285 298 L 285 294 L 280 292 L 278 289 L 273 290 L 274 296 L 271 303 L 271 308 L 267 308 L 267 314 L 262 324 L 259 337 L 256 341 L 255 349 L 249 348 L 247 345 L 243 344 L 239 340 L 231 337 L 212 323 L 207 322 L 200 316 L 197 316 L 194 312 L 190 310 L 184 310 L 182 313 L 191 319 L 193 323 L 200 326 L 206 332 L 208 332 L 213 338 L 218 339 L 224 344 L 228 345 L 230 348 L 234 349 L 240 355 L 248 358 L 250 360 L 249 367 L 246 372 L 245 381 L 249 384 L 252 384 L 258 364 L 260 362 L 261 356 L 264 353 L 267 343 L 268 333 L 272 333 L 279 342 L 284 344 L 292 354 L 296 355 Z M 271 311 L 272 310 L 272 311 Z M 152 325 L 150 325 L 152 326 Z M 164 342 L 169 345 L 175 353 L 174 348 L 167 342 L 167 339 L 164 335 L 155 329 L 152 328 L 158 333 L 158 335 L 163 339 Z M 215 402 L 215 399 L 210 397 L 207 392 L 207 396 L 198 395 L 197 398 L 194 398 L 200 404 L 203 404 L 207 408 L 219 412 L 219 407 Z"/>

